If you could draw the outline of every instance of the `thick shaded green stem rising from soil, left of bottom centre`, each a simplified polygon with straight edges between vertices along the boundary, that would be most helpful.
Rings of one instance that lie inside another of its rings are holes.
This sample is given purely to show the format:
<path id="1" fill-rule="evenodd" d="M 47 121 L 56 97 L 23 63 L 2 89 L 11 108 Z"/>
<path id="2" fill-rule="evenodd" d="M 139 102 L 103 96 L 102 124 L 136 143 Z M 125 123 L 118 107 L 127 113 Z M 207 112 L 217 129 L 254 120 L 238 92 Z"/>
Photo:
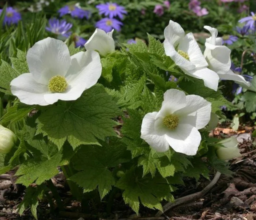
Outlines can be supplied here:
<path id="1" fill-rule="evenodd" d="M 68 180 L 69 177 L 74 175 L 72 167 L 70 167 L 69 165 L 64 165 L 64 166 L 61 166 L 61 169 L 67 179 L 67 183 L 70 187 L 70 191 L 71 191 L 72 195 L 78 201 L 81 201 L 82 196 L 83 196 L 83 189 L 81 187 L 79 187 L 76 183 L 74 183 L 73 181 Z"/>

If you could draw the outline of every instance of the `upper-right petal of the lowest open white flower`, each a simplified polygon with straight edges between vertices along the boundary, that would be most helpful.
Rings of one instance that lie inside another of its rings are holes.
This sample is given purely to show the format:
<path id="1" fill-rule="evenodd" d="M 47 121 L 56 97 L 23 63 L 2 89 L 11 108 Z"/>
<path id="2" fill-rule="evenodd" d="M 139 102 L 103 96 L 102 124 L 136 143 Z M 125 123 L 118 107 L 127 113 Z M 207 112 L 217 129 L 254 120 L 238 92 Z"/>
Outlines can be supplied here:
<path id="1" fill-rule="evenodd" d="M 179 115 L 179 118 L 181 119 L 179 123 L 188 123 L 188 119 L 186 119 L 186 117 L 183 119 L 183 117 L 187 115 L 189 117 L 189 115 L 191 115 L 195 117 L 195 124 L 193 124 L 193 121 L 190 120 L 190 125 L 196 127 L 197 129 L 205 127 L 211 118 L 212 104 L 198 95 L 187 95 L 186 101 L 186 107 L 175 112 L 175 114 Z M 194 119 L 191 116 L 189 118 Z"/>

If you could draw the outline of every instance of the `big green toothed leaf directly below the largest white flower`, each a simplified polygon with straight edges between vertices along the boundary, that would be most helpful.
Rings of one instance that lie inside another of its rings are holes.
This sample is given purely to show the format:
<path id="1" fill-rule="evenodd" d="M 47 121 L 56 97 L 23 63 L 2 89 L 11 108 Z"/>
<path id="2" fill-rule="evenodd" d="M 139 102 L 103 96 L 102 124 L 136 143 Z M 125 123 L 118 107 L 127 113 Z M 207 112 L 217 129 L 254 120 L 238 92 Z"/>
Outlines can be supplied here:
<path id="1" fill-rule="evenodd" d="M 47 135 L 60 149 L 66 140 L 73 148 L 81 144 L 98 144 L 106 136 L 117 136 L 112 120 L 122 112 L 103 86 L 85 90 L 76 101 L 58 102 L 36 120 L 37 134 Z M 51 123 L 49 123 L 51 122 Z"/>

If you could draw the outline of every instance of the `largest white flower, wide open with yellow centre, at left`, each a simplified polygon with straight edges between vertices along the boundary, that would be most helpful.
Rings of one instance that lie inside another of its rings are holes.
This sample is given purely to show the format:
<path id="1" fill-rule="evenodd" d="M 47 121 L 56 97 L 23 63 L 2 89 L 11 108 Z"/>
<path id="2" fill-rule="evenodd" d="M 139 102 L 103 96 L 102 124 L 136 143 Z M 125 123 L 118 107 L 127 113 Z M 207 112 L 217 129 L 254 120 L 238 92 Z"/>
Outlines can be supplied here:
<path id="1" fill-rule="evenodd" d="M 100 55 L 79 52 L 70 57 L 67 45 L 54 38 L 35 43 L 27 53 L 30 73 L 11 81 L 12 94 L 28 105 L 50 105 L 76 100 L 101 75 Z"/>

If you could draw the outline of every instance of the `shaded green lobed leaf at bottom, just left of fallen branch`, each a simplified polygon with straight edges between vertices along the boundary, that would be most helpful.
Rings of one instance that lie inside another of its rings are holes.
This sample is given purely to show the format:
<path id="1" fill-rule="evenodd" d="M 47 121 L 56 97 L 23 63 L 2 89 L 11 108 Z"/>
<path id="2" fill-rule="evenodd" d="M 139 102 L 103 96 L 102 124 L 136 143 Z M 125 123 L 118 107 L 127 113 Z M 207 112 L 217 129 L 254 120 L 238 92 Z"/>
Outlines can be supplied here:
<path id="1" fill-rule="evenodd" d="M 171 186 L 166 179 L 160 175 L 154 178 L 147 175 L 144 178 L 139 168 L 131 168 L 116 183 L 116 186 L 123 189 L 123 199 L 126 204 L 138 214 L 139 204 L 141 203 L 148 208 L 162 210 L 160 201 L 164 198 L 171 198 Z"/>

